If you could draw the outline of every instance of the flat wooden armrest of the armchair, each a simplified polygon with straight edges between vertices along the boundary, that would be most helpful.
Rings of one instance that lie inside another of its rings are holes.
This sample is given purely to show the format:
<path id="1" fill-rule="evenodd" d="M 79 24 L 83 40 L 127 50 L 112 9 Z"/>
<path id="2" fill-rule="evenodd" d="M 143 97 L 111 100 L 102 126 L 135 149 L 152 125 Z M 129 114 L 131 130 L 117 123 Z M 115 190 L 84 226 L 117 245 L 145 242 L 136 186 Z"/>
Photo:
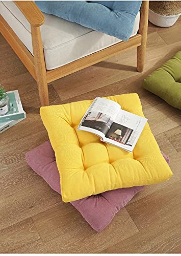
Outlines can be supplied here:
<path id="1" fill-rule="evenodd" d="M 45 17 L 33 1 L 14 1 L 14 3 L 33 27 L 40 27 L 44 23 Z"/>

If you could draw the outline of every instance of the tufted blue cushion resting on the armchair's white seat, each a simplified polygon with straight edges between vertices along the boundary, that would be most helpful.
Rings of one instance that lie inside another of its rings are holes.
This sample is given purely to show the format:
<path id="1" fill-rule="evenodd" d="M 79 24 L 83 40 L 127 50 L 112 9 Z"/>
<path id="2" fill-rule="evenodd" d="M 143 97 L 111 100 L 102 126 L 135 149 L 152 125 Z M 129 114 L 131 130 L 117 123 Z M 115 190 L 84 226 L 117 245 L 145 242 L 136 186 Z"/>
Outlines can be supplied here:
<path id="1" fill-rule="evenodd" d="M 35 1 L 42 12 L 127 41 L 142 1 Z"/>

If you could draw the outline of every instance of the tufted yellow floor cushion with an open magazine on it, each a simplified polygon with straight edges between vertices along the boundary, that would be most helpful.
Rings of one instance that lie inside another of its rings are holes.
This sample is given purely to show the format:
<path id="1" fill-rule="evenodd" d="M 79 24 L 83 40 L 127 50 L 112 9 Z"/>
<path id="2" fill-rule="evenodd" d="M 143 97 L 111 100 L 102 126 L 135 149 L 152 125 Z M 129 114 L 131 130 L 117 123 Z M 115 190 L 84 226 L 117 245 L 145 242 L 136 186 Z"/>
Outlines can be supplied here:
<path id="1" fill-rule="evenodd" d="M 106 98 L 118 102 L 123 110 L 144 117 L 137 94 Z M 148 123 L 133 153 L 100 142 L 91 133 L 77 131 L 91 103 L 86 100 L 40 109 L 55 151 L 64 202 L 112 189 L 159 183 L 172 176 Z"/>

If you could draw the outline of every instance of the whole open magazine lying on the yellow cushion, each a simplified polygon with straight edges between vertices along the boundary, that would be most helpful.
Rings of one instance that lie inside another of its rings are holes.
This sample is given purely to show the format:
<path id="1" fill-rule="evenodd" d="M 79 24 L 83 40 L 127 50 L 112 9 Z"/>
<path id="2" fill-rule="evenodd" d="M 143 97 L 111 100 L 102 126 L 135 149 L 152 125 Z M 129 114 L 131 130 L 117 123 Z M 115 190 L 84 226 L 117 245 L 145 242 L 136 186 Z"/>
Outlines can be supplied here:
<path id="1" fill-rule="evenodd" d="M 132 152 L 148 119 L 121 110 L 120 104 L 95 98 L 77 130 L 98 135 L 101 141 Z"/>

